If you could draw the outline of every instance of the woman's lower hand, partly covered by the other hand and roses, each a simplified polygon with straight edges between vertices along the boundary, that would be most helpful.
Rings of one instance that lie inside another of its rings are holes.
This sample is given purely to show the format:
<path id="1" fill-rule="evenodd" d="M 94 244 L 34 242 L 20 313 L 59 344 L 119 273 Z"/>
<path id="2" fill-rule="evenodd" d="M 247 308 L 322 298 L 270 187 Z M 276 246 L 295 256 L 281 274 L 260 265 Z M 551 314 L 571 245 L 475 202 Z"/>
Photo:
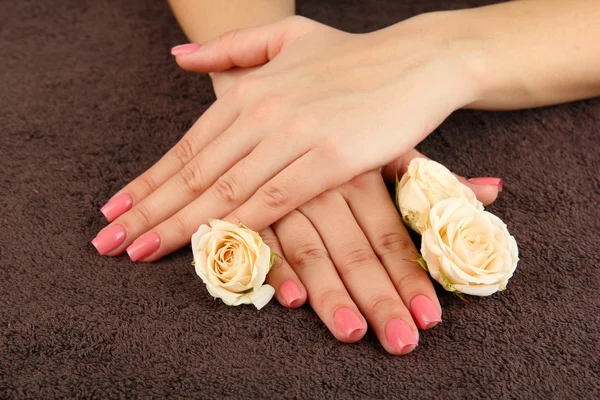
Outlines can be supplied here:
<path id="1" fill-rule="evenodd" d="M 418 156 L 411 151 L 388 172 L 404 173 Z M 485 204 L 500 189 L 469 186 Z M 279 302 L 295 308 L 308 297 L 342 342 L 360 340 L 368 323 L 389 353 L 406 354 L 417 346 L 417 328 L 429 329 L 442 320 L 429 276 L 410 261 L 418 258 L 417 249 L 378 171 L 317 196 L 261 236 L 283 256 L 267 276 Z"/>

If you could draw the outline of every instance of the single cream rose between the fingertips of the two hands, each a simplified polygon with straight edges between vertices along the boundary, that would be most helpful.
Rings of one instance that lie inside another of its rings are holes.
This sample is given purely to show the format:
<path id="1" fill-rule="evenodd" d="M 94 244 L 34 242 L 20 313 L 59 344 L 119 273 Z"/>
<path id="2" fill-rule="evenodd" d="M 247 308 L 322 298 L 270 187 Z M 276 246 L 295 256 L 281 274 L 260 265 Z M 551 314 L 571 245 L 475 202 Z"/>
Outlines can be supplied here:
<path id="1" fill-rule="evenodd" d="M 230 306 L 254 304 L 259 310 L 275 294 L 264 285 L 271 269 L 271 249 L 243 225 L 210 220 L 192 236 L 196 273 L 208 292 Z"/>

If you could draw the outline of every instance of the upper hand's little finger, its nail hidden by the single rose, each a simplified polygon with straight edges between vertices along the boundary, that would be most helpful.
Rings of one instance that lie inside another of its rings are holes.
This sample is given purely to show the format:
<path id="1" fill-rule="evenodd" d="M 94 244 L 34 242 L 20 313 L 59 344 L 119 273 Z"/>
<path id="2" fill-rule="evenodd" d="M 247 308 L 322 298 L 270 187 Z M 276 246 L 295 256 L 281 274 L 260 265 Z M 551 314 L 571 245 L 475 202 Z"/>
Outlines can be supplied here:
<path id="1" fill-rule="evenodd" d="M 327 174 L 316 171 L 328 171 Z M 331 177 L 335 177 L 332 179 Z M 341 163 L 323 151 L 310 150 L 262 185 L 225 219 L 261 230 L 328 189 L 353 178 Z"/>

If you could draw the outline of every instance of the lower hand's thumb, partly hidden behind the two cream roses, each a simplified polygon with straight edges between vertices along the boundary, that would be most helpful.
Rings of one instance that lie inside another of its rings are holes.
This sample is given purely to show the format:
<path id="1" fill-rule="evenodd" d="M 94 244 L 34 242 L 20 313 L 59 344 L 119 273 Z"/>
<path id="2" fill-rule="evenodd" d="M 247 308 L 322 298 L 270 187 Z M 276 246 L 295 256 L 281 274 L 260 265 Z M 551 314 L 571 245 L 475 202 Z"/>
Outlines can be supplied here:
<path id="1" fill-rule="evenodd" d="M 388 183 L 394 182 L 396 176 L 398 179 L 400 179 L 400 177 L 404 175 L 408 169 L 408 164 L 410 164 L 412 159 L 416 157 L 427 158 L 417 150 L 413 149 L 406 152 L 397 160 L 386 165 L 381 170 L 381 174 L 383 175 L 385 181 Z M 469 187 L 475 193 L 477 199 L 481 201 L 484 206 L 493 203 L 498 197 L 498 193 L 502 191 L 502 179 L 500 178 L 478 177 L 467 179 L 459 175 L 456 175 L 456 177 L 462 184 Z"/>

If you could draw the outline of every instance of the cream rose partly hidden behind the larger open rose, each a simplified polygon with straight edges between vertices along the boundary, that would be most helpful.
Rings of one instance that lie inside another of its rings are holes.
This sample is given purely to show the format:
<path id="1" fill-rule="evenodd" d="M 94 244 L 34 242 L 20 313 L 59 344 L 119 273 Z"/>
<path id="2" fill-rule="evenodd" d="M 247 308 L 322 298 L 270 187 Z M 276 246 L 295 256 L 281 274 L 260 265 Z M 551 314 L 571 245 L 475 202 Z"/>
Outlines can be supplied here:
<path id="1" fill-rule="evenodd" d="M 396 203 L 402 219 L 412 230 L 423 234 L 429 210 L 439 201 L 463 198 L 479 210 L 483 205 L 473 191 L 442 164 L 425 158 L 414 158 L 396 188 Z"/>

